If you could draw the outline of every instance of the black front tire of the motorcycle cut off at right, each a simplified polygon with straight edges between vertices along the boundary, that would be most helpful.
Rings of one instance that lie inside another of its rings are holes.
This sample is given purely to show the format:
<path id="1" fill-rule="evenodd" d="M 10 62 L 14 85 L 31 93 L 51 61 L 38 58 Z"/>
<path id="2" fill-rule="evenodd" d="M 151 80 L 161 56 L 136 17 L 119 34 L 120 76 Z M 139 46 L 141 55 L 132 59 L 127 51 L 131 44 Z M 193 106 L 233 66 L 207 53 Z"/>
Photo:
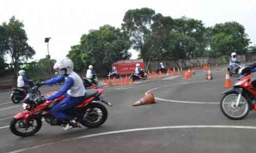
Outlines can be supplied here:
<path id="1" fill-rule="evenodd" d="M 238 93 L 232 92 L 232 93 L 228 93 L 228 94 L 225 94 L 225 95 L 222 96 L 222 98 L 221 98 L 221 103 L 220 103 L 220 107 L 221 107 L 222 113 L 223 113 L 227 118 L 232 119 L 232 120 L 239 120 L 239 119 L 245 118 L 245 117 L 248 115 L 248 113 L 250 112 L 250 104 L 249 104 L 249 100 L 248 100 L 247 96 L 244 95 L 244 94 L 241 95 L 241 99 L 240 99 L 240 100 L 243 99 L 243 101 L 245 101 L 246 108 L 245 108 L 245 111 L 243 112 L 243 114 L 240 115 L 240 116 L 232 116 L 232 115 L 230 115 L 229 113 L 226 112 L 226 109 L 224 109 L 224 101 L 225 101 L 225 99 L 226 99 L 227 97 L 230 97 L 230 96 L 238 96 Z M 232 105 L 232 104 L 229 104 L 229 105 Z M 231 106 L 230 106 L 230 107 L 231 107 Z M 239 108 L 239 109 L 240 109 L 240 108 Z M 234 111 L 235 111 L 235 110 L 234 110 Z"/>

